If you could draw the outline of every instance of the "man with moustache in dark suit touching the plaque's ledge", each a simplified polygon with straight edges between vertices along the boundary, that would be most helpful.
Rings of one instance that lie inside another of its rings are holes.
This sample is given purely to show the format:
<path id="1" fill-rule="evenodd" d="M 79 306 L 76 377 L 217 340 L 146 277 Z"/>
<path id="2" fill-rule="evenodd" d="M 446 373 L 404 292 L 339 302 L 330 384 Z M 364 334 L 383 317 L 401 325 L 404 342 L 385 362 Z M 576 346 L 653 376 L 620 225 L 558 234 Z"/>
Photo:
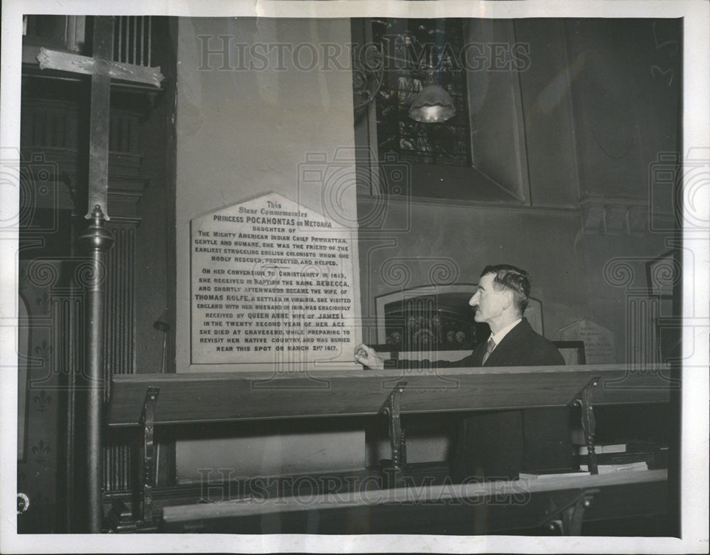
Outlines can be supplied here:
<path id="1" fill-rule="evenodd" d="M 491 335 L 468 357 L 457 362 L 400 361 L 402 367 L 480 367 L 563 365 L 557 347 L 535 333 L 523 317 L 530 297 L 530 274 L 499 264 L 486 266 L 469 304 L 476 322 L 487 323 Z M 355 350 L 355 360 L 371 368 L 384 360 L 367 345 Z M 567 409 L 485 411 L 466 417 L 452 460 L 457 480 L 515 478 L 523 470 L 566 469 L 572 466 Z"/>

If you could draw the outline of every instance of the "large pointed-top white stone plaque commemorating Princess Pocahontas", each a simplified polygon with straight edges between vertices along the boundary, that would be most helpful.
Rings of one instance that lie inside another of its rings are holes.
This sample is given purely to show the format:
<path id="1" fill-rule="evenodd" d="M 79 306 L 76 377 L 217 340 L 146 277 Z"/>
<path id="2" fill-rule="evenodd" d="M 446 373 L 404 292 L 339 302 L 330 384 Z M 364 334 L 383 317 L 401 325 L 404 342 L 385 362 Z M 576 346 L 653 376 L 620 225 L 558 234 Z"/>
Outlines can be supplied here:
<path id="1" fill-rule="evenodd" d="M 352 362 L 356 230 L 277 193 L 190 222 L 192 364 Z"/>

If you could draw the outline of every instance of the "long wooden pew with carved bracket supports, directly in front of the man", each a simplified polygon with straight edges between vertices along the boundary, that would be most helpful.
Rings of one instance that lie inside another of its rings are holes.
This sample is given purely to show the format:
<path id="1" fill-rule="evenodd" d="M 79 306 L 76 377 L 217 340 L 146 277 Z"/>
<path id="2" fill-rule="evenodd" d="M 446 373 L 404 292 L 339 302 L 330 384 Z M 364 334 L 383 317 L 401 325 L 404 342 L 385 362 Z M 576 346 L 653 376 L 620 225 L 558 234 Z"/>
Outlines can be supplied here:
<path id="1" fill-rule="evenodd" d="M 155 426 L 386 412 L 392 450 L 386 485 L 396 487 L 403 479 L 401 414 L 577 403 L 594 474 L 593 406 L 668 402 L 678 387 L 665 365 L 114 375 L 107 414 L 110 427 L 143 429 L 143 505 L 140 521 L 129 528 L 150 530 L 158 526 L 152 506 Z"/>

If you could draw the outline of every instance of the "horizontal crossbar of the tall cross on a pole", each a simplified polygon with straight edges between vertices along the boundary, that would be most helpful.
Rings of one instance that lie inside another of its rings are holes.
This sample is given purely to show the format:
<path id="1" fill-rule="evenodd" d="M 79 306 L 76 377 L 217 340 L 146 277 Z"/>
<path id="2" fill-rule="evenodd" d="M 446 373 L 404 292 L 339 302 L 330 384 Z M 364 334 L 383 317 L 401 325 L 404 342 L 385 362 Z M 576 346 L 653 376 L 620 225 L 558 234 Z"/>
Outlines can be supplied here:
<path id="1" fill-rule="evenodd" d="M 160 88 L 160 82 L 165 79 L 160 72 L 159 66 L 157 68 L 147 68 L 142 65 L 95 60 L 87 56 L 48 50 L 47 48 L 40 48 L 37 61 L 42 70 L 62 70 L 87 75 L 103 74 L 109 75 L 111 79 L 147 83 L 158 88 Z"/>

